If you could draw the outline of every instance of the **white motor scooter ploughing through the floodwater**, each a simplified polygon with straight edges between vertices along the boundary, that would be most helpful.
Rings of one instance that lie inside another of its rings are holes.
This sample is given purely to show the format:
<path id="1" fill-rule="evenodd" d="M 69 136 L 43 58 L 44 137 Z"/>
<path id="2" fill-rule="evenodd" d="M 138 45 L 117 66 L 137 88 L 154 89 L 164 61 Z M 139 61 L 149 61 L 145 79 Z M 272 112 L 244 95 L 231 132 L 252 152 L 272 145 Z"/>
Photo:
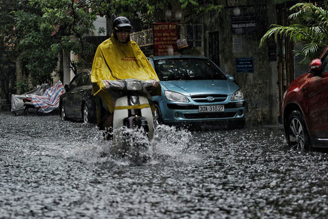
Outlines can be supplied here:
<path id="1" fill-rule="evenodd" d="M 138 79 L 103 80 L 116 99 L 113 115 L 113 143 L 118 154 L 139 157 L 148 150 L 154 135 L 154 121 L 150 93 L 158 81 Z"/>

